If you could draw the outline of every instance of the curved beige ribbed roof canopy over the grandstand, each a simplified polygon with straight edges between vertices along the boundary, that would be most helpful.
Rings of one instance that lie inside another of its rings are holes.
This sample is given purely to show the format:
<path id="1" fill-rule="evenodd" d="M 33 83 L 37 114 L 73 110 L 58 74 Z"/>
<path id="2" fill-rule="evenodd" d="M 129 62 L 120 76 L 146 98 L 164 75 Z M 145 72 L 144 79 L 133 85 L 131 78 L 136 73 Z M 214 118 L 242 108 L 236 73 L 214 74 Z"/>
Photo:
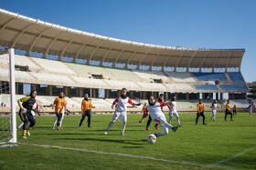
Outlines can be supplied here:
<path id="1" fill-rule="evenodd" d="M 47 55 L 113 64 L 187 68 L 240 68 L 244 49 L 148 45 L 95 35 L 0 9 L 0 45 Z M 187 69 L 188 70 L 188 69 Z"/>

